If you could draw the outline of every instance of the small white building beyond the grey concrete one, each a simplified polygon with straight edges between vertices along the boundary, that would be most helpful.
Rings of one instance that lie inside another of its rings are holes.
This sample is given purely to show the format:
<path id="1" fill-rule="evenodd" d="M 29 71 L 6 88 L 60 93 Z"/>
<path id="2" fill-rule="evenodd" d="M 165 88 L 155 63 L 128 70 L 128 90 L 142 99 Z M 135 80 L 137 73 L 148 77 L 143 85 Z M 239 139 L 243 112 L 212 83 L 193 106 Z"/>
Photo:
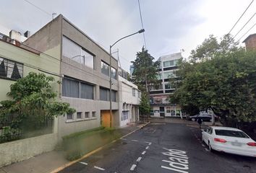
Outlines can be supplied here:
<path id="1" fill-rule="evenodd" d="M 141 93 L 135 84 L 127 80 L 128 73 L 119 68 L 119 126 L 139 120 Z"/>

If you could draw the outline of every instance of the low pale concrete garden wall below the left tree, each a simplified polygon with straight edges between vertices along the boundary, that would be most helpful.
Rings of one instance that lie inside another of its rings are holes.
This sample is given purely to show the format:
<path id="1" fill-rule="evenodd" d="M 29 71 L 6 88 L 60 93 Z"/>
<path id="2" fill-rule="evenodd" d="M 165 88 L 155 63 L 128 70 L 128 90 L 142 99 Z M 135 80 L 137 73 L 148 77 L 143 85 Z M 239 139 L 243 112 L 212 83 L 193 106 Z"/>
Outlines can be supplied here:
<path id="1" fill-rule="evenodd" d="M 54 150 L 56 133 L 0 144 L 0 167 Z"/>

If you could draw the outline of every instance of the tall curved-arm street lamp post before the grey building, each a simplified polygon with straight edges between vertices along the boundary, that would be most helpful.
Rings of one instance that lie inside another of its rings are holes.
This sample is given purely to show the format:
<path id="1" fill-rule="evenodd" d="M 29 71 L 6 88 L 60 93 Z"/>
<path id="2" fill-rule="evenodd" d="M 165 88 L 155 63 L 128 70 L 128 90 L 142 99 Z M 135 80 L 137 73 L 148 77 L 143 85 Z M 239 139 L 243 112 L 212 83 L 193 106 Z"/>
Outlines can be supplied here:
<path id="1" fill-rule="evenodd" d="M 145 30 L 144 29 L 141 29 L 141 30 L 139 30 L 138 32 L 135 32 L 135 33 L 133 33 L 133 34 L 131 34 L 131 35 L 127 35 L 127 36 L 125 36 L 125 37 L 121 37 L 119 40 L 117 40 L 113 45 L 110 45 L 109 46 L 109 59 L 110 59 L 110 61 L 109 61 L 109 68 L 110 68 L 110 74 L 109 74 L 109 90 L 110 90 L 110 94 L 109 94 L 109 103 L 110 103 L 110 127 L 112 127 L 112 78 L 111 78 L 111 48 L 114 46 L 114 45 L 116 45 L 116 43 L 118 43 L 120 40 L 123 40 L 124 38 L 126 38 L 126 37 L 130 37 L 130 36 L 132 36 L 132 35 L 135 35 L 135 34 L 140 34 L 140 33 L 142 33 L 142 32 L 145 32 Z"/>

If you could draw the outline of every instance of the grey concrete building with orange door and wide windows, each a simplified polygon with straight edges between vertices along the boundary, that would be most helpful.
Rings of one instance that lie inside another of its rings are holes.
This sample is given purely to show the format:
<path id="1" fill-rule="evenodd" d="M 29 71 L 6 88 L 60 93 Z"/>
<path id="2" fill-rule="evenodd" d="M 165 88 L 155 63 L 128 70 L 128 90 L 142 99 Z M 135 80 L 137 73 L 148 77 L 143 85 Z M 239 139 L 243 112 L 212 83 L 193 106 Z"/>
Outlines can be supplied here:
<path id="1" fill-rule="evenodd" d="M 110 94 L 112 125 L 119 125 L 118 62 L 111 57 L 110 67 L 106 50 L 61 14 L 23 44 L 61 62 L 59 98 L 77 112 L 58 118 L 59 138 L 101 125 L 110 126 Z M 111 93 L 109 76 L 112 78 Z"/>

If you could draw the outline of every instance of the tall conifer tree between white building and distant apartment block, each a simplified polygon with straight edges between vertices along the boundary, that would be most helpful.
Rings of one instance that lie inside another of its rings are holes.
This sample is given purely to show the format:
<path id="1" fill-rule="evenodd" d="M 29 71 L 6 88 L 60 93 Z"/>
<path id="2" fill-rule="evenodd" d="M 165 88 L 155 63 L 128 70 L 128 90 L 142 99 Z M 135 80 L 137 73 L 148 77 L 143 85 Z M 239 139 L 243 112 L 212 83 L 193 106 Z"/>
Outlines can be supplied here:
<path id="1" fill-rule="evenodd" d="M 137 58 L 132 61 L 134 71 L 132 76 L 135 84 L 139 86 L 142 92 L 149 92 L 150 86 L 158 85 L 158 66 L 159 62 L 153 62 L 153 56 L 150 56 L 148 50 L 142 48 L 141 52 L 137 53 Z"/>

